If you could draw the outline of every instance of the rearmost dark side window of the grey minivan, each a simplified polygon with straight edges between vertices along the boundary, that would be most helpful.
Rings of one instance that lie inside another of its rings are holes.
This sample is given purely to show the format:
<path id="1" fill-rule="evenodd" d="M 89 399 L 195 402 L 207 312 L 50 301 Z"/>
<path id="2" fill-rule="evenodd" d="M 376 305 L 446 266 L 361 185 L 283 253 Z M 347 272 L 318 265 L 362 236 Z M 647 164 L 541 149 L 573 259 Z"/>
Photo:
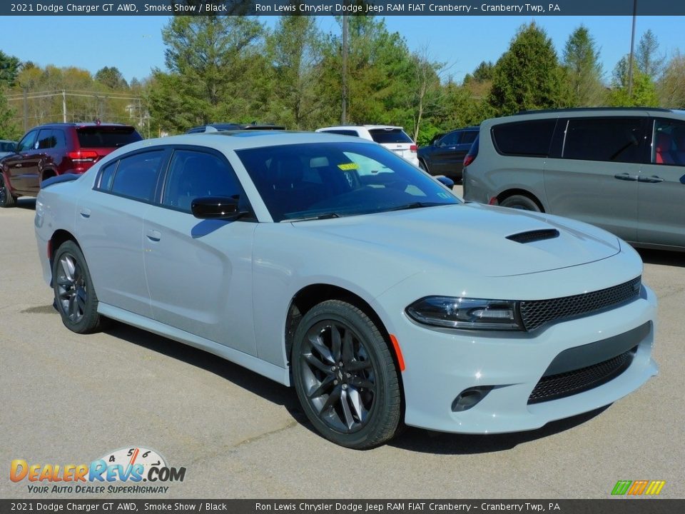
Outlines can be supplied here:
<path id="1" fill-rule="evenodd" d="M 511 156 L 547 157 L 556 119 L 517 121 L 492 127 L 497 153 Z"/>

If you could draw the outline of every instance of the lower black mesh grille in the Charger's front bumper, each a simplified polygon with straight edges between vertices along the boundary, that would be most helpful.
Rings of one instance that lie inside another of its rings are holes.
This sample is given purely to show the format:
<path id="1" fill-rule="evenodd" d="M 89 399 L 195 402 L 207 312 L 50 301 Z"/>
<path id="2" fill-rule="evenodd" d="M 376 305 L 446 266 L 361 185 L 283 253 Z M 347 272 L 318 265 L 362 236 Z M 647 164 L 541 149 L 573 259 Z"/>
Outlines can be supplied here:
<path id="1" fill-rule="evenodd" d="M 582 393 L 607 383 L 626 371 L 633 361 L 637 346 L 607 361 L 558 375 L 542 377 L 528 397 L 528 404 L 557 400 Z"/>

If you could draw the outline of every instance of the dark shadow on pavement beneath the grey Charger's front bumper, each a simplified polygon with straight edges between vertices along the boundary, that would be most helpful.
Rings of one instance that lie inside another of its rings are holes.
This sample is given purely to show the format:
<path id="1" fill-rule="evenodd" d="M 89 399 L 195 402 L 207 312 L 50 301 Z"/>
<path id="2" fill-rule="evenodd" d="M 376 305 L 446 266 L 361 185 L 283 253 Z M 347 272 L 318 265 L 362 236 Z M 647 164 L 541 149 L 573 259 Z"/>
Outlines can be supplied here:
<path id="1" fill-rule="evenodd" d="M 511 450 L 519 444 L 529 443 L 532 440 L 542 439 L 582 425 L 607 410 L 609 406 L 606 405 L 587 413 L 574 415 L 572 418 L 552 421 L 542 428 L 525 432 L 474 435 L 433 432 L 432 430 L 407 427 L 388 444 L 403 450 L 442 455 L 470 455 Z"/>

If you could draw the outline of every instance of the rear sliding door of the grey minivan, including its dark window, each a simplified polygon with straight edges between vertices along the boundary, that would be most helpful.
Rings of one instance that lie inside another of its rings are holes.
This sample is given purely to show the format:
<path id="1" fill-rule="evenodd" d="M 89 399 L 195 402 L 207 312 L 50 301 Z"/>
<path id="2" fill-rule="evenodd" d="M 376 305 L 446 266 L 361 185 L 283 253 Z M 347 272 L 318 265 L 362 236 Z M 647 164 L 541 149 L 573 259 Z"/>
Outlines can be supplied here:
<path id="1" fill-rule="evenodd" d="M 548 212 L 636 241 L 646 124 L 644 116 L 560 119 L 544 167 Z"/>

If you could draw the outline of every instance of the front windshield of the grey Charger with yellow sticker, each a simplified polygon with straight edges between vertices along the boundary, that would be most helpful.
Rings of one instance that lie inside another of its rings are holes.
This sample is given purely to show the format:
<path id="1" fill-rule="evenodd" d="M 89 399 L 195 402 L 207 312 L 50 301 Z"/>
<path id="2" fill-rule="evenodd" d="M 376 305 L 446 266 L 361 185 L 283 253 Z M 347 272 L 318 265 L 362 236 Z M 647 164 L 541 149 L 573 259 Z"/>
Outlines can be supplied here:
<path id="1" fill-rule="evenodd" d="M 273 221 L 459 203 L 444 186 L 375 144 L 304 143 L 236 153 Z"/>

